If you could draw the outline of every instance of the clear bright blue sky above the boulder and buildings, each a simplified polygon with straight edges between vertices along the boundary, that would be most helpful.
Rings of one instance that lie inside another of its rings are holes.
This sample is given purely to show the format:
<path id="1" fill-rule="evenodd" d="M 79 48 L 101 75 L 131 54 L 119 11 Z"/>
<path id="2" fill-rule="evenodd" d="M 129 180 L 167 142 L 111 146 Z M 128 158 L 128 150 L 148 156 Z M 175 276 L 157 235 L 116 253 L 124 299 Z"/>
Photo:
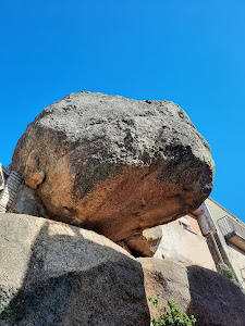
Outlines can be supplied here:
<path id="1" fill-rule="evenodd" d="M 171 100 L 211 146 L 211 197 L 245 221 L 245 1 L 0 1 L 1 155 L 70 92 Z"/>

